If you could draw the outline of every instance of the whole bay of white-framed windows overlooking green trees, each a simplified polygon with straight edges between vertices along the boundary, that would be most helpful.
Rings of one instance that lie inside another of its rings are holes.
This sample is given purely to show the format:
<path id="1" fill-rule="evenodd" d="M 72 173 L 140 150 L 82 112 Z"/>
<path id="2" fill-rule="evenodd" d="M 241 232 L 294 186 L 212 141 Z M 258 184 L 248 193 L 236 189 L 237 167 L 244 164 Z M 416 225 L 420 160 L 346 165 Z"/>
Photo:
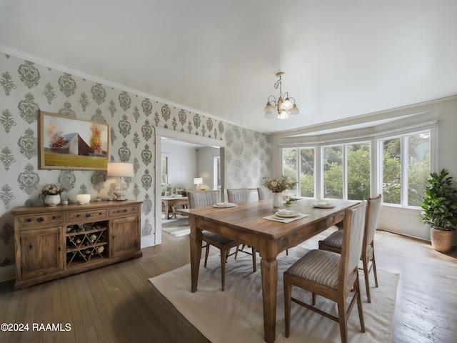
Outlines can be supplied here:
<path id="1" fill-rule="evenodd" d="M 326 145 L 318 149 L 283 148 L 283 175 L 297 182 L 295 189 L 285 193 L 316 198 L 319 194 L 322 198 L 348 200 L 367 199 L 382 193 L 383 204 L 419 207 L 432 168 L 435 124 L 424 123 L 421 131 L 416 132 L 400 129 L 401 134 L 371 141 Z M 372 151 L 372 143 L 376 143 L 378 149 Z M 373 158 L 376 158 L 376 168 L 371 166 Z M 318 164 L 317 168 L 315 164 Z M 371 189 L 372 185 L 376 189 Z"/>

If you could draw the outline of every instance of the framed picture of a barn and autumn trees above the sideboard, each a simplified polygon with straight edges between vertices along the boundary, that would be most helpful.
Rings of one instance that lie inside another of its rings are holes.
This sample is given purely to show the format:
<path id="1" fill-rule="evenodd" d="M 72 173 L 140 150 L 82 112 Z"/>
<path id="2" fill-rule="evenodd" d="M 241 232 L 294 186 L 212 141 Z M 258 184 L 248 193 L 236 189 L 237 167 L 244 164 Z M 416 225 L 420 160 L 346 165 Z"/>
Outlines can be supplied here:
<path id="1" fill-rule="evenodd" d="M 39 169 L 106 170 L 109 124 L 40 111 Z"/>

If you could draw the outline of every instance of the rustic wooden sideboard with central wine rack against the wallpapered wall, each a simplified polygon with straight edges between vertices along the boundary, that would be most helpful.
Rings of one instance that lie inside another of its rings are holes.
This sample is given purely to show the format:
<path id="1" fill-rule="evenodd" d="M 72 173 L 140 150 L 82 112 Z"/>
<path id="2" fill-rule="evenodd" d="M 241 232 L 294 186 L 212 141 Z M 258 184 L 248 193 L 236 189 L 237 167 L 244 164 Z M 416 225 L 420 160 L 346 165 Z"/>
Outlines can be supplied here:
<path id="1" fill-rule="evenodd" d="M 23 289 L 141 257 L 141 202 L 16 207 L 16 284 Z"/>

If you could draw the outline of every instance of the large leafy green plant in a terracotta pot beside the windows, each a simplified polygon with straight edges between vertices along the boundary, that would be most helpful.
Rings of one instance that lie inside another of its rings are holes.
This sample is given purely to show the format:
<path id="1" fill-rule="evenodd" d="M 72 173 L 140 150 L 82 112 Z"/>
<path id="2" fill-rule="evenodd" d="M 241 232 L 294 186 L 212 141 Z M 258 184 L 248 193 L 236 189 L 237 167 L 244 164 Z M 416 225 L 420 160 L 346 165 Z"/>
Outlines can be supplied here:
<path id="1" fill-rule="evenodd" d="M 421 220 L 430 225 L 431 245 L 438 252 L 451 251 L 457 224 L 457 189 L 448 175 L 447 169 L 431 173 L 421 202 Z"/>

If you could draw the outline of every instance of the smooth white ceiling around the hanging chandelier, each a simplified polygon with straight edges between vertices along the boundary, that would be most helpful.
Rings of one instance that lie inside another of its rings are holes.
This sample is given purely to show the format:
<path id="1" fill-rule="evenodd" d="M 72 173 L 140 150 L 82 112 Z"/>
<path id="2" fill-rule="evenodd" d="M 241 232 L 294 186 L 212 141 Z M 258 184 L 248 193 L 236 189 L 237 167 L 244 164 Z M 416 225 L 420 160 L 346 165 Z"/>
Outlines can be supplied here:
<path id="1" fill-rule="evenodd" d="M 0 0 L 0 49 L 271 133 L 457 94 L 455 0 Z M 264 119 L 276 73 L 301 113 Z"/>

